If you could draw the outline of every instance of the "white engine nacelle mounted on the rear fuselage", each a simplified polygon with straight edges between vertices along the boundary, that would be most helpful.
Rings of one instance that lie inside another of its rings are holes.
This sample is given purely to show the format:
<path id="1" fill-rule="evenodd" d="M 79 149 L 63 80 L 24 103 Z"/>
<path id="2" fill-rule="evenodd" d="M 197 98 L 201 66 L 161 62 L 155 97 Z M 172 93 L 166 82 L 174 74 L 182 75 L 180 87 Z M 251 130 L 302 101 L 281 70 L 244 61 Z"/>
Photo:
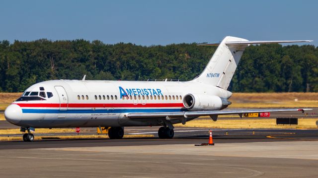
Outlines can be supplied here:
<path id="1" fill-rule="evenodd" d="M 231 105 L 225 98 L 209 95 L 187 94 L 183 97 L 183 106 L 189 111 L 222 110 Z"/>

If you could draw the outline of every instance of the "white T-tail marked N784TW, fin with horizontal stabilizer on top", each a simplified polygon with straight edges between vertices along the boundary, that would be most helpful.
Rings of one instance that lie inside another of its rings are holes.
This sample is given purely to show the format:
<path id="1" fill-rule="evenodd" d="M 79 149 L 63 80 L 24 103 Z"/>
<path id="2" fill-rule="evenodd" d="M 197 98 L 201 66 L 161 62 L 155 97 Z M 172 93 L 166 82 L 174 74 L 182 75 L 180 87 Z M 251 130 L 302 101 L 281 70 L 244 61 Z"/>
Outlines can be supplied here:
<path id="1" fill-rule="evenodd" d="M 219 46 L 203 72 L 193 81 L 211 84 L 228 89 L 234 72 L 239 64 L 239 60 L 245 50 L 251 44 L 270 43 L 297 43 L 311 42 L 310 40 L 298 41 L 248 41 L 238 37 L 225 37 L 219 43 L 199 44 L 198 46 Z"/>

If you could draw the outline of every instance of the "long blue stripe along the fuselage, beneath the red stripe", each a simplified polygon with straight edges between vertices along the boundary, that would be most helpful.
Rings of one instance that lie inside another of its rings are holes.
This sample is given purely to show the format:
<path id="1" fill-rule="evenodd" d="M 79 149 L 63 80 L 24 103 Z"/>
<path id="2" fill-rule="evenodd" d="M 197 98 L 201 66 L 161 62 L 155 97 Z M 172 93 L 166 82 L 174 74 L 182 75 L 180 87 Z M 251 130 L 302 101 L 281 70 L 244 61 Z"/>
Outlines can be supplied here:
<path id="1" fill-rule="evenodd" d="M 183 109 L 115 109 L 115 110 L 53 110 L 53 109 L 22 109 L 22 113 L 38 114 L 80 114 L 80 113 L 161 113 L 161 112 L 180 112 Z"/>

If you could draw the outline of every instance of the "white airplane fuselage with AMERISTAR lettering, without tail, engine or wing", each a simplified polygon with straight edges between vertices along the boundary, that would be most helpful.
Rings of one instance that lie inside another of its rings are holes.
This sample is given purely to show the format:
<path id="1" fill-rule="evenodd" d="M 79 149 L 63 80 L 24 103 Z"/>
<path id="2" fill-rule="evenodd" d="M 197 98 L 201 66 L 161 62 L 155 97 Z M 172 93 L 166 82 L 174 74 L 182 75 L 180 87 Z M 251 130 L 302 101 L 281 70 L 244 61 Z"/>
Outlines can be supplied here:
<path id="1" fill-rule="evenodd" d="M 183 104 L 186 94 L 227 99 L 232 95 L 224 89 L 191 81 L 50 80 L 25 90 L 8 107 L 16 111 L 11 113 L 14 116 L 6 114 L 6 119 L 21 127 L 36 128 L 154 126 L 160 123 L 154 119 L 128 119 L 126 114 L 188 111 Z M 213 108 L 220 110 L 221 106 Z"/>

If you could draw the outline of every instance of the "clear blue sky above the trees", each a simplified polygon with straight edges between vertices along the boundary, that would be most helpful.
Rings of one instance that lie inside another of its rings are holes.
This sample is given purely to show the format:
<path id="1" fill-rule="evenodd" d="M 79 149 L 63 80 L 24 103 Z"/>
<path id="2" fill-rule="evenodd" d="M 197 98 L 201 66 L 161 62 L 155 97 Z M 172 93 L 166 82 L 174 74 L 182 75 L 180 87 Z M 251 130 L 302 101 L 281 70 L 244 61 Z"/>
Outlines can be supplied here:
<path id="1" fill-rule="evenodd" d="M 101 40 L 138 45 L 314 40 L 315 0 L 6 0 L 0 40 Z"/>

